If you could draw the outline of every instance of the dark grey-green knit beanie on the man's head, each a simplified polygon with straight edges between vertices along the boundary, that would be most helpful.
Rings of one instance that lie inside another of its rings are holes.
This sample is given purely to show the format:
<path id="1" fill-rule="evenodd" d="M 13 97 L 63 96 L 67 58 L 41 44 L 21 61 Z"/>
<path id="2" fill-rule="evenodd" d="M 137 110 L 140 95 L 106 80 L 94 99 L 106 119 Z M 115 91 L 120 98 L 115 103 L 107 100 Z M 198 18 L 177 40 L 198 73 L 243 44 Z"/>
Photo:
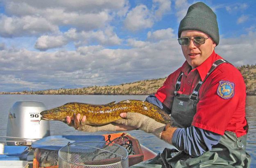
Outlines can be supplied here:
<path id="1" fill-rule="evenodd" d="M 197 2 L 188 8 L 186 16 L 179 24 L 178 38 L 184 30 L 197 30 L 208 34 L 216 46 L 220 36 L 215 13 L 203 2 Z"/>

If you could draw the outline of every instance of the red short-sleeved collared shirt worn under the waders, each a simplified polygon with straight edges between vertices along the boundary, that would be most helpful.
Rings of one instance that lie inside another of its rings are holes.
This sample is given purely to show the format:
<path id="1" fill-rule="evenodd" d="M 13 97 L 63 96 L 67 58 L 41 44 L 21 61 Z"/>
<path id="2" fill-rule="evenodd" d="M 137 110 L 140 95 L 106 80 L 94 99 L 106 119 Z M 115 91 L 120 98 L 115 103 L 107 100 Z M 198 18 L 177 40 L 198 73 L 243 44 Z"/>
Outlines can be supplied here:
<path id="1" fill-rule="evenodd" d="M 155 96 L 168 108 L 172 109 L 175 84 L 181 71 L 184 73 L 181 79 L 180 94 L 191 95 L 197 82 L 205 79 L 213 62 L 223 59 L 214 51 L 207 60 L 195 69 L 191 70 L 188 62 L 185 62 L 177 71 L 170 74 L 163 86 L 158 89 Z M 191 70 L 191 71 L 190 71 Z M 218 95 L 220 81 L 233 83 L 234 94 L 228 98 Z M 197 112 L 193 118 L 192 126 L 224 135 L 224 131 L 235 132 L 237 137 L 246 134 L 245 119 L 245 82 L 241 73 L 231 64 L 220 64 L 204 81 L 199 90 L 199 102 Z"/>

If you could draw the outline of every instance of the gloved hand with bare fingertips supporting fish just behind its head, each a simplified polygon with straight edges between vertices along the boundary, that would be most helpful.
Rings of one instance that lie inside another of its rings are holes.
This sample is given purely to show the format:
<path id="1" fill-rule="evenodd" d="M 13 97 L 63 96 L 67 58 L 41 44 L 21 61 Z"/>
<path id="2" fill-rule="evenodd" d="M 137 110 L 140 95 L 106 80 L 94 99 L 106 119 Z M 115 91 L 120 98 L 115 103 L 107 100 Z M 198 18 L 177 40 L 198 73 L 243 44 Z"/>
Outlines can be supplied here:
<path id="1" fill-rule="evenodd" d="M 67 116 L 66 122 L 68 126 L 74 127 L 76 130 L 82 130 L 86 132 L 96 132 L 96 131 L 126 131 L 134 130 L 136 128 L 132 126 L 125 126 L 122 124 L 110 123 L 105 125 L 86 125 L 86 116 L 84 115 L 80 120 L 81 115 L 73 115 L 72 117 Z"/>

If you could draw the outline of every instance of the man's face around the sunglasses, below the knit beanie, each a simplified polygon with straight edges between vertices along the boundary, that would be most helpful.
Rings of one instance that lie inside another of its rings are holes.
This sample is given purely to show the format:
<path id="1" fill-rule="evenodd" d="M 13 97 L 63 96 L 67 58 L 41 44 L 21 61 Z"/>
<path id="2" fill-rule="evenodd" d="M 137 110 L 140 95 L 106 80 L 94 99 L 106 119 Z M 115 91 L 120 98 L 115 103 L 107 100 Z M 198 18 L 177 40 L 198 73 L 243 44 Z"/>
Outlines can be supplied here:
<path id="1" fill-rule="evenodd" d="M 181 32 L 181 37 L 196 37 L 203 36 L 205 38 L 209 37 L 206 33 L 202 31 L 195 30 L 184 30 Z M 184 57 L 186 58 L 188 64 L 192 68 L 196 68 L 201 65 L 210 55 L 213 53 L 216 44 L 211 38 L 205 40 L 204 44 L 195 44 L 193 40 L 190 40 L 189 45 L 181 46 Z"/>

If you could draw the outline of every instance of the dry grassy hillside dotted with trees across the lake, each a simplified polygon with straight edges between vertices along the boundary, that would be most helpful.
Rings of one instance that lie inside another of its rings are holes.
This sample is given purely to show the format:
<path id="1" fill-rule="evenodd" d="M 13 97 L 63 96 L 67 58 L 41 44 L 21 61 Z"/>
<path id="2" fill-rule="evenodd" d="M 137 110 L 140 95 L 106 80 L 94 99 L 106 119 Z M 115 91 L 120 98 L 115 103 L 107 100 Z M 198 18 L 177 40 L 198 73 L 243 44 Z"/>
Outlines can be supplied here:
<path id="1" fill-rule="evenodd" d="M 256 95 L 256 65 L 238 67 L 242 73 L 247 95 Z M 162 86 L 165 78 L 140 80 L 115 86 L 89 86 L 84 88 L 60 88 L 45 91 L 0 92 L 0 94 L 37 94 L 37 95 L 150 95 Z"/>

